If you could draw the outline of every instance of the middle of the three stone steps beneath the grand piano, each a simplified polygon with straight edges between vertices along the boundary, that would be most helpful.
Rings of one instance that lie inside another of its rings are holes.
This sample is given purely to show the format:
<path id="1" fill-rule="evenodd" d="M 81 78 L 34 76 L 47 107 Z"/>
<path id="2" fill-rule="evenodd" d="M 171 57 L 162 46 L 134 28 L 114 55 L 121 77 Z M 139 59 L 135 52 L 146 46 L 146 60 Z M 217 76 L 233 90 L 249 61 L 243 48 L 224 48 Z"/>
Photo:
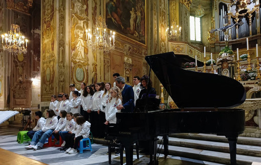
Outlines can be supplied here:
<path id="1" fill-rule="evenodd" d="M 161 136 L 159 136 L 158 138 L 160 143 Z M 206 140 L 169 137 L 168 144 L 169 146 L 188 147 L 188 148 L 194 148 L 200 150 L 229 153 L 228 142 L 222 143 L 222 142 L 211 142 Z M 236 145 L 236 153 L 240 155 L 248 155 L 248 156 L 261 156 L 261 147 L 250 146 L 250 145 Z"/>

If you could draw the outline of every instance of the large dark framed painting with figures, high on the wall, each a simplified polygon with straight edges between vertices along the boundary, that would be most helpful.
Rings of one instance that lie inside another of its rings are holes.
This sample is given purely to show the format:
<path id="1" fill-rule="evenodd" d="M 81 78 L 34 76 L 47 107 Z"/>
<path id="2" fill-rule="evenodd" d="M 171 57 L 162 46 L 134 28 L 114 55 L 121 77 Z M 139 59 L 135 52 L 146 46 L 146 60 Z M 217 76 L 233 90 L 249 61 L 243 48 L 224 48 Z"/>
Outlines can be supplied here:
<path id="1" fill-rule="evenodd" d="M 104 3 L 108 29 L 147 44 L 146 0 L 104 0 Z"/>

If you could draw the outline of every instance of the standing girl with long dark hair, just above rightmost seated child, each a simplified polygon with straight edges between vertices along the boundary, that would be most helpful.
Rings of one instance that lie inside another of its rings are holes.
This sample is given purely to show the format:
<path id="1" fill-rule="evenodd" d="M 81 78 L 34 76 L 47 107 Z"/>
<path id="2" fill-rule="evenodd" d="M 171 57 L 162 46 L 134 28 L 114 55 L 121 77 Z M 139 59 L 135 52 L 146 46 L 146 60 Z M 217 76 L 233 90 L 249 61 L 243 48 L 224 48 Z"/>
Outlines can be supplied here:
<path id="1" fill-rule="evenodd" d="M 83 116 L 86 121 L 89 121 L 89 114 L 91 113 L 90 107 L 93 104 L 94 91 L 91 86 L 86 86 L 83 90 L 83 95 L 81 98 L 81 105 L 83 109 Z"/>

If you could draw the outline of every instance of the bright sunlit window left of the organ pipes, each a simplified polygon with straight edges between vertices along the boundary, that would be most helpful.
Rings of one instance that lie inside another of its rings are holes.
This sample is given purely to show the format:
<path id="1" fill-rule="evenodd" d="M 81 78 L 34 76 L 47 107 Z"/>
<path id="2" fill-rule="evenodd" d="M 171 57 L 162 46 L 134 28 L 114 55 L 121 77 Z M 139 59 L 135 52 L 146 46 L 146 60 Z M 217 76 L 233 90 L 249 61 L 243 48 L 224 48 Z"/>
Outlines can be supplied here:
<path id="1" fill-rule="evenodd" d="M 190 40 L 201 41 L 201 20 L 199 17 L 190 16 Z"/>

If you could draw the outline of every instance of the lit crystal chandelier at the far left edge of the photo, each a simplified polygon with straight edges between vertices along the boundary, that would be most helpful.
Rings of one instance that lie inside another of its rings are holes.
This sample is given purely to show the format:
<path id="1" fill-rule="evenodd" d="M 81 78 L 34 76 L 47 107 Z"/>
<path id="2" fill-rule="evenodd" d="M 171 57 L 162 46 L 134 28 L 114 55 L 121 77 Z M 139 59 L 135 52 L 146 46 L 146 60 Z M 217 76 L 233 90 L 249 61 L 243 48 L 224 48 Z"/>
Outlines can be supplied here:
<path id="1" fill-rule="evenodd" d="M 26 47 L 24 45 L 25 41 Z M 20 32 L 19 25 L 16 24 L 11 25 L 11 30 L 8 31 L 8 34 L 2 34 L 3 50 L 14 55 L 27 54 L 27 42 L 28 40 Z"/>

